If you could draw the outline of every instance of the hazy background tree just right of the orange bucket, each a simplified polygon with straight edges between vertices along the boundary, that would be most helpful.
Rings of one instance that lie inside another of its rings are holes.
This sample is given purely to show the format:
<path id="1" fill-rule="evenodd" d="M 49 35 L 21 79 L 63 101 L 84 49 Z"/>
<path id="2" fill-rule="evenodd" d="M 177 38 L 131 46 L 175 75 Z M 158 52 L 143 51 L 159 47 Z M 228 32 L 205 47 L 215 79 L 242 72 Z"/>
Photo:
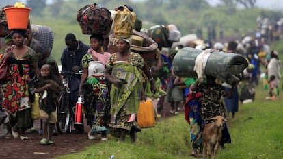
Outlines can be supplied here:
<path id="1" fill-rule="evenodd" d="M 27 6 L 32 9 L 31 14 L 42 16 L 42 10 L 46 7 L 46 0 L 27 0 Z"/>

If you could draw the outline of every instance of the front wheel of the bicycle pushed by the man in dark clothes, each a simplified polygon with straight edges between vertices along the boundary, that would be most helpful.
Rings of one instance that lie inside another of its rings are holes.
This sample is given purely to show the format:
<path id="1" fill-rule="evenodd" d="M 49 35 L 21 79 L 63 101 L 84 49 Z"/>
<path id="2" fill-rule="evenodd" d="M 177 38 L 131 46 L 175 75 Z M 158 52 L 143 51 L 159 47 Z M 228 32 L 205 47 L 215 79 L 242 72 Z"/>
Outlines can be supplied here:
<path id="1" fill-rule="evenodd" d="M 56 128 L 59 134 L 70 132 L 69 95 L 66 90 L 59 95 Z"/>

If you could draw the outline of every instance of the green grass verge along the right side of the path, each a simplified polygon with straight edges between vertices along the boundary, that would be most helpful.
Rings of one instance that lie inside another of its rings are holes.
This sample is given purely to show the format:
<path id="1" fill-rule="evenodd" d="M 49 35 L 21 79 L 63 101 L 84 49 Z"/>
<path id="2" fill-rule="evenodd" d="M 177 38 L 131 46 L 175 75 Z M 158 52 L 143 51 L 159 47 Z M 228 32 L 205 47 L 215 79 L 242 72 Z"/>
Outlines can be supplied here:
<path id="1" fill-rule="evenodd" d="M 228 122 L 231 144 L 219 151 L 217 158 L 280 158 L 283 156 L 283 99 L 266 101 L 267 90 L 256 88 L 256 101 L 241 104 L 234 121 Z M 191 158 L 189 125 L 183 114 L 158 121 L 154 128 L 139 132 L 137 143 L 125 143 L 109 137 L 79 153 L 57 158 Z"/>

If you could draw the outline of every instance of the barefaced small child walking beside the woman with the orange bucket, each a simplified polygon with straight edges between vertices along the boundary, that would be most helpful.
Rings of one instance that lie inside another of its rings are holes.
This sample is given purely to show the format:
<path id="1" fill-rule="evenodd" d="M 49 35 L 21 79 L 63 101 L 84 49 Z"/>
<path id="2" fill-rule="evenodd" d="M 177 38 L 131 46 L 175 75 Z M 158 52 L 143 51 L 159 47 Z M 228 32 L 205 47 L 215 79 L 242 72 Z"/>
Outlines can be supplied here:
<path id="1" fill-rule="evenodd" d="M 40 116 L 43 123 L 41 145 L 55 145 L 51 138 L 57 122 L 59 84 L 59 71 L 57 71 L 56 62 L 44 64 L 40 69 L 39 87 L 36 88 L 36 93 L 40 94 Z"/>

